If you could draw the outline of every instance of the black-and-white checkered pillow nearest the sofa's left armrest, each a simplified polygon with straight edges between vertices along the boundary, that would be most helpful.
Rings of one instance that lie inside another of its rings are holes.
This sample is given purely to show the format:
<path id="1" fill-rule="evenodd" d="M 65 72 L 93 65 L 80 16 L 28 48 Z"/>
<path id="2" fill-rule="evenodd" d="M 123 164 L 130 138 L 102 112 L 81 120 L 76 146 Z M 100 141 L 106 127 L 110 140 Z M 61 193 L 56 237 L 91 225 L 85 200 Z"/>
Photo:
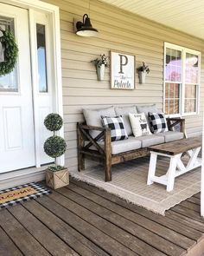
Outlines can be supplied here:
<path id="1" fill-rule="evenodd" d="M 124 128 L 124 120 L 122 116 L 101 116 L 102 123 L 106 128 L 112 129 L 112 141 L 122 141 L 128 139 L 128 135 Z"/>

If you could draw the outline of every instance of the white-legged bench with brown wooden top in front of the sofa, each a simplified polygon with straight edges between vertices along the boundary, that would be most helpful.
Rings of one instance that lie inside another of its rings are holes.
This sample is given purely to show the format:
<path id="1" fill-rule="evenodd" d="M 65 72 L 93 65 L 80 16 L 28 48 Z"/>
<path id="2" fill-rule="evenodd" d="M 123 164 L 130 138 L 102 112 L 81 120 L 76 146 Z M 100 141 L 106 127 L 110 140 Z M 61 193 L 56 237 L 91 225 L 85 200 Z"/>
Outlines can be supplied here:
<path id="1" fill-rule="evenodd" d="M 152 146 L 150 150 L 150 167 L 147 184 L 154 182 L 167 186 L 167 191 L 174 189 L 175 177 L 185 174 L 190 170 L 201 167 L 201 159 L 198 154 L 201 150 L 201 137 L 192 137 L 180 141 L 172 141 L 161 145 Z M 182 154 L 188 152 L 189 161 L 186 166 L 182 163 Z M 162 155 L 170 158 L 167 174 L 156 176 L 157 156 Z"/>

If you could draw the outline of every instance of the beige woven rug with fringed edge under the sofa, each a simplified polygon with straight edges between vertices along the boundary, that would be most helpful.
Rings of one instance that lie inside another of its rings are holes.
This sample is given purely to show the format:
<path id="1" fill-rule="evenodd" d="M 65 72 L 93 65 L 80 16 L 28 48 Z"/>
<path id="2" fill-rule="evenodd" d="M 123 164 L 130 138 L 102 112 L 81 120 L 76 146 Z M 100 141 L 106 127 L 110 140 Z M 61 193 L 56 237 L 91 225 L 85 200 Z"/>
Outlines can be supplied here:
<path id="1" fill-rule="evenodd" d="M 175 187 L 171 192 L 160 184 L 146 185 L 149 157 L 127 161 L 112 167 L 112 181 L 105 182 L 104 167 L 89 167 L 83 172 L 70 171 L 73 178 L 85 181 L 95 187 L 118 195 L 133 204 L 165 215 L 165 211 L 182 200 L 201 191 L 201 167 L 175 178 Z M 168 159 L 160 159 L 157 163 L 157 175 L 166 174 Z"/>

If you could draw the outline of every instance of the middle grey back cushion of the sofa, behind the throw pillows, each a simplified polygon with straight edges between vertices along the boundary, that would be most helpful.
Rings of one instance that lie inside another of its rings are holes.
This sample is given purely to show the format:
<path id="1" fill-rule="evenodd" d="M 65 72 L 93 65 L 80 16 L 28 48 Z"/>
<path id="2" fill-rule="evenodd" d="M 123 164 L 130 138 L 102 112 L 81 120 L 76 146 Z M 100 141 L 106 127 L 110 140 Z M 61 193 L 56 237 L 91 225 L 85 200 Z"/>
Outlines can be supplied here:
<path id="1" fill-rule="evenodd" d="M 116 115 L 122 115 L 124 120 L 124 128 L 127 135 L 132 135 L 131 122 L 129 120 L 129 113 L 137 114 L 136 106 L 124 106 L 115 108 Z"/>

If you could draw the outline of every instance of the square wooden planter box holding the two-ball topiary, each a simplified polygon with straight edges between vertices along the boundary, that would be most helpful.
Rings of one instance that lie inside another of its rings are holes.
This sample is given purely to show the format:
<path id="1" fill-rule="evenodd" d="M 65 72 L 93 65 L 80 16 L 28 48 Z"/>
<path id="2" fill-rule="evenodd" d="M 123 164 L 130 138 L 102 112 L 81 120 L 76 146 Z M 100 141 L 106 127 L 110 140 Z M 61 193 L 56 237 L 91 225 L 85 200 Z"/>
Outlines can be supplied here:
<path id="1" fill-rule="evenodd" d="M 65 187 L 69 184 L 67 168 L 57 172 L 52 172 L 47 169 L 45 177 L 47 186 L 54 189 Z"/>

